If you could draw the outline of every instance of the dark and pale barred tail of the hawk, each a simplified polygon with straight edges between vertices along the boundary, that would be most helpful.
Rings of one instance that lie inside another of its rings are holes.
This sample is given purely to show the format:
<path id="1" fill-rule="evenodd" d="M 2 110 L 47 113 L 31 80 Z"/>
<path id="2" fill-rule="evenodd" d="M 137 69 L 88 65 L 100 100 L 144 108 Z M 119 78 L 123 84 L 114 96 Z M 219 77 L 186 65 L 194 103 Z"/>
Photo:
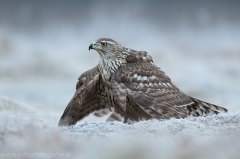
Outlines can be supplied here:
<path id="1" fill-rule="evenodd" d="M 228 110 L 226 108 L 207 103 L 204 101 L 201 101 L 199 99 L 190 97 L 194 103 L 192 105 L 187 106 L 189 115 L 193 116 L 205 116 L 210 114 L 218 114 L 220 112 L 227 112 Z"/>

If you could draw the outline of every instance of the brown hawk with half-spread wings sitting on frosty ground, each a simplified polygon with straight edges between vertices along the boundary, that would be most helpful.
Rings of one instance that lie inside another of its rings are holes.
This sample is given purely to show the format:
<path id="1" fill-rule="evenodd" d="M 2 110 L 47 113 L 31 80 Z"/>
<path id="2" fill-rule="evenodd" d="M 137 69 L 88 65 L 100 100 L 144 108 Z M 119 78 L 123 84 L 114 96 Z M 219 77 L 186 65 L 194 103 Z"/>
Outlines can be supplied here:
<path id="1" fill-rule="evenodd" d="M 78 78 L 76 92 L 59 126 L 74 125 L 102 110 L 111 111 L 112 120 L 122 118 L 124 123 L 227 112 L 184 94 L 145 51 L 123 47 L 109 38 L 98 39 L 90 49 L 99 53 L 99 63 Z"/>

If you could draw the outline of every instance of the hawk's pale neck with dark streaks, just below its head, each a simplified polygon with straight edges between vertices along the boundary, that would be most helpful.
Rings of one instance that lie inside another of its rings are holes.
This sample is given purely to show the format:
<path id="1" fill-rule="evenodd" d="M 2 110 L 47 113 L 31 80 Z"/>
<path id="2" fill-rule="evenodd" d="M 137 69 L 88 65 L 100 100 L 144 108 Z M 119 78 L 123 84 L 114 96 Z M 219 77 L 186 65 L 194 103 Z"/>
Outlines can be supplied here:
<path id="1" fill-rule="evenodd" d="M 100 58 L 98 63 L 98 69 L 105 81 L 110 81 L 112 74 L 114 74 L 122 65 L 126 64 L 124 58 Z"/>

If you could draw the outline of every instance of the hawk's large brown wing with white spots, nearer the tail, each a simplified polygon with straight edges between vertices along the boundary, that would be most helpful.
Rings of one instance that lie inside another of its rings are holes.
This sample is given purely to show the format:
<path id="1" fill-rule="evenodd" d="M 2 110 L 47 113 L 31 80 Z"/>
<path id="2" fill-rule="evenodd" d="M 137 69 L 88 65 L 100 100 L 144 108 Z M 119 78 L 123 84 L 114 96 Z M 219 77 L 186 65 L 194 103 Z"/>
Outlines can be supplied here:
<path id="1" fill-rule="evenodd" d="M 193 104 L 190 97 L 150 62 L 122 66 L 112 77 L 112 87 L 114 97 L 123 109 L 130 98 L 153 118 L 186 117 L 186 106 Z"/>

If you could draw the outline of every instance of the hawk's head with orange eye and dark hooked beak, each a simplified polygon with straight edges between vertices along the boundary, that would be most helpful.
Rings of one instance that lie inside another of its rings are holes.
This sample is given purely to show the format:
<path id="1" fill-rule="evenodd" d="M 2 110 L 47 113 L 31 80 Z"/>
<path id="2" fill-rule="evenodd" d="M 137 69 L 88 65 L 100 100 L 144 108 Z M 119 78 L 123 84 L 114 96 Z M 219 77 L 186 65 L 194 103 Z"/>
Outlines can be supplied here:
<path id="1" fill-rule="evenodd" d="M 109 38 L 100 38 L 89 46 L 90 49 L 96 50 L 101 58 L 113 58 L 122 51 L 122 46 L 118 42 Z"/>

